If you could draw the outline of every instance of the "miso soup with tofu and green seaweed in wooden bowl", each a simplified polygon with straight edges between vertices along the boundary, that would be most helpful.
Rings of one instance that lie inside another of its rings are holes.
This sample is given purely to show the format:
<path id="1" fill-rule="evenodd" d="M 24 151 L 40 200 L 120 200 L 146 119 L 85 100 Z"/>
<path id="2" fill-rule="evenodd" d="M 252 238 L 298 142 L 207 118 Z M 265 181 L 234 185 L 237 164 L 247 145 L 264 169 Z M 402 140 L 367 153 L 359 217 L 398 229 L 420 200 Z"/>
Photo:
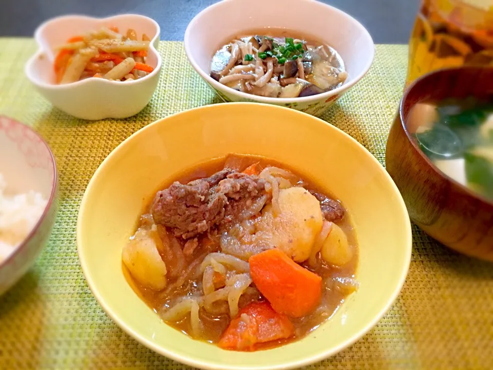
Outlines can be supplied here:
<path id="1" fill-rule="evenodd" d="M 408 130 L 439 170 L 493 200 L 493 99 L 421 102 Z"/>

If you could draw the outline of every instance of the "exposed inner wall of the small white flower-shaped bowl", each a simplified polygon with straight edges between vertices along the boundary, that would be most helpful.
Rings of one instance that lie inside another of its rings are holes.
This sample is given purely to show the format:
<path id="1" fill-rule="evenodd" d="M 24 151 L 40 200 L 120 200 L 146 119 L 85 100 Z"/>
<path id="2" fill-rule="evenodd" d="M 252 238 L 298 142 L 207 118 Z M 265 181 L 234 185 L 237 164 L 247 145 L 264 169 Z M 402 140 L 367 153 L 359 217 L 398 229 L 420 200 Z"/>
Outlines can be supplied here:
<path id="1" fill-rule="evenodd" d="M 145 33 L 149 36 L 151 45 L 158 46 L 159 25 L 143 15 L 123 14 L 109 18 L 92 18 L 82 15 L 61 16 L 47 21 L 36 30 L 34 37 L 41 48 L 41 53 L 37 55 L 33 63 L 28 65 L 26 70 L 28 76 L 35 83 L 54 83 L 53 62 L 58 53 L 56 48 L 65 44 L 72 36 L 97 31 L 103 26 L 116 26 L 122 33 L 133 28 L 138 37 L 142 37 Z M 158 65 L 158 53 L 152 48 L 149 50 L 146 63 L 155 68 Z"/>

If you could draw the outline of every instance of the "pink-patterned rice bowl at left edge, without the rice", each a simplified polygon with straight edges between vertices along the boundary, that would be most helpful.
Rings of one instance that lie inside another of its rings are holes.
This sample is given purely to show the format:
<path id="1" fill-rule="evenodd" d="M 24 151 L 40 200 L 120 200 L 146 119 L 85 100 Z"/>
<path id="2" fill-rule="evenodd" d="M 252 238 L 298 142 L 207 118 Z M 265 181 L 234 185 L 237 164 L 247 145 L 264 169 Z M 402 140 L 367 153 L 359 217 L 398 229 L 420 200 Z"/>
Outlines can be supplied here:
<path id="1" fill-rule="evenodd" d="M 0 262 L 0 294 L 29 270 L 46 245 L 58 210 L 56 164 L 48 144 L 29 126 L 0 116 L 0 173 L 11 190 L 34 190 L 48 199 L 46 209 L 15 251 Z"/>

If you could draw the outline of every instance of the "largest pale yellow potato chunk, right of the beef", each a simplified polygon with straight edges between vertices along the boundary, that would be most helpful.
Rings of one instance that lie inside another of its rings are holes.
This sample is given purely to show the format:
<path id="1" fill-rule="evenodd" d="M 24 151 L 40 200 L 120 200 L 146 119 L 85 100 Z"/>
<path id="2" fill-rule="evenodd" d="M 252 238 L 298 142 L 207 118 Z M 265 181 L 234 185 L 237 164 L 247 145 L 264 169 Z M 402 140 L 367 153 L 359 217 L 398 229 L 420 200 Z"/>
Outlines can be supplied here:
<path id="1" fill-rule="evenodd" d="M 256 237 L 263 235 L 272 247 L 281 249 L 295 262 L 303 262 L 310 256 L 322 228 L 320 203 L 306 189 L 293 187 L 279 191 L 279 208 L 277 217 L 271 205 L 264 208 Z"/>

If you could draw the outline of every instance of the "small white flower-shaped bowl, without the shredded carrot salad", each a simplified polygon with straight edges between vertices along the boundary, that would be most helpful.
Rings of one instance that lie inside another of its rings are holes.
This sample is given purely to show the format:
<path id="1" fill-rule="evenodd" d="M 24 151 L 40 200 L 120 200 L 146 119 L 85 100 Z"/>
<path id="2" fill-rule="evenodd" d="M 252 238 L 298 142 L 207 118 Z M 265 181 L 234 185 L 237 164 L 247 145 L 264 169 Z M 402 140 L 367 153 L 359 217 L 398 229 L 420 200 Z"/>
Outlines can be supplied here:
<path id="1" fill-rule="evenodd" d="M 154 71 L 135 81 L 109 81 L 89 78 L 66 85 L 55 83 L 53 62 L 56 47 L 75 35 L 95 31 L 103 26 L 116 26 L 121 32 L 135 29 L 138 36 L 145 33 L 151 42 L 146 63 Z M 158 85 L 161 72 L 159 25 L 143 15 L 122 14 L 108 18 L 65 15 L 52 18 L 38 27 L 34 38 L 39 50 L 25 67 L 27 78 L 50 103 L 65 113 L 86 120 L 127 118 L 139 113 L 149 102 Z"/>

